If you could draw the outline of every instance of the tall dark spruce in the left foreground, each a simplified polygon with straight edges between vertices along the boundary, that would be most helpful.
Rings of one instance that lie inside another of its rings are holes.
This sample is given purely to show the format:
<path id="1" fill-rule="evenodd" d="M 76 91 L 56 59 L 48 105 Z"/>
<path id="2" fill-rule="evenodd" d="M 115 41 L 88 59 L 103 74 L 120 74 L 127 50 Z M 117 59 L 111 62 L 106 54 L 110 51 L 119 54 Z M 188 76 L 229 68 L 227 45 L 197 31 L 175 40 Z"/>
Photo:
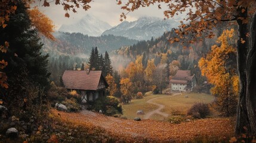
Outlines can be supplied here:
<path id="1" fill-rule="evenodd" d="M 15 14 L 10 15 L 8 26 L 0 29 L 0 43 L 8 41 L 7 53 L 0 58 L 8 62 L 3 69 L 8 76 L 8 89 L 2 89 L 1 96 L 11 110 L 33 109 L 42 104 L 50 87 L 47 71 L 48 55 L 42 55 L 42 43 L 30 23 L 27 7 L 17 2 Z"/>

